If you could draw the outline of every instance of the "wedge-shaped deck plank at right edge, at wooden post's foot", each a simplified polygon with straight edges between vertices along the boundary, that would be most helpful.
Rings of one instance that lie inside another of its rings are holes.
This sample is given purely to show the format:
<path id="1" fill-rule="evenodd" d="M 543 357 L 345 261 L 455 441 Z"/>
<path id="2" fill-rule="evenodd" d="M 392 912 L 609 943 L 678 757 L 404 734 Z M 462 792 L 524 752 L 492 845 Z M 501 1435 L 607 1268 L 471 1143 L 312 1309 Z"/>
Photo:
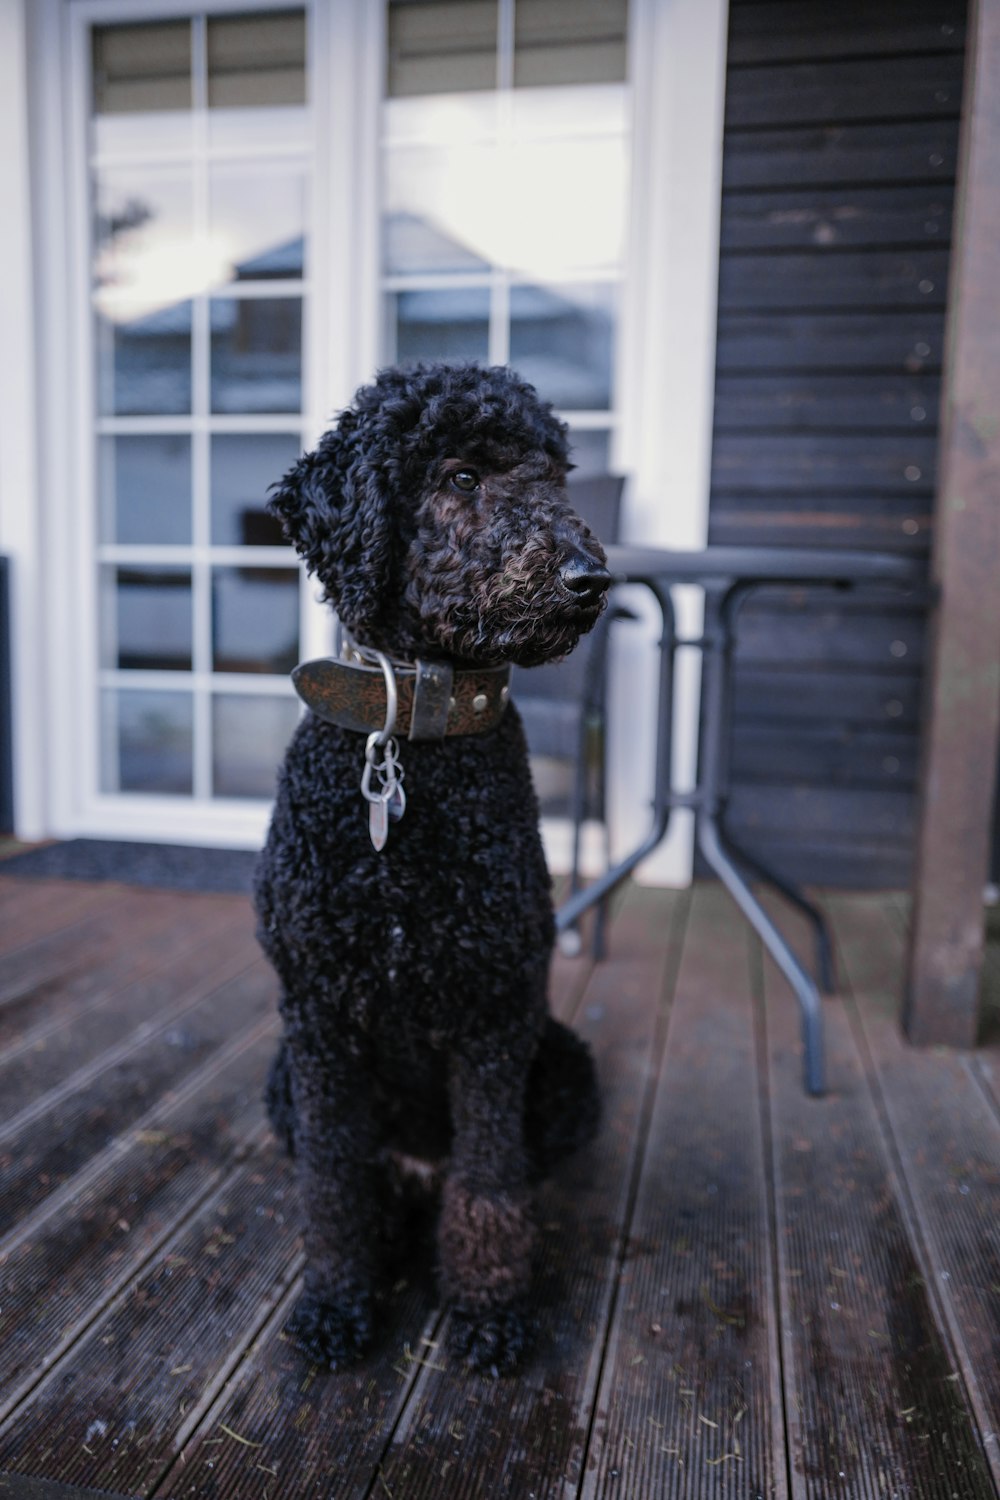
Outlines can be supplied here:
<path id="1" fill-rule="evenodd" d="M 828 898 L 933 1286 L 1000 1491 L 1000 1120 L 972 1053 L 900 1029 L 903 940 L 882 903 Z"/>

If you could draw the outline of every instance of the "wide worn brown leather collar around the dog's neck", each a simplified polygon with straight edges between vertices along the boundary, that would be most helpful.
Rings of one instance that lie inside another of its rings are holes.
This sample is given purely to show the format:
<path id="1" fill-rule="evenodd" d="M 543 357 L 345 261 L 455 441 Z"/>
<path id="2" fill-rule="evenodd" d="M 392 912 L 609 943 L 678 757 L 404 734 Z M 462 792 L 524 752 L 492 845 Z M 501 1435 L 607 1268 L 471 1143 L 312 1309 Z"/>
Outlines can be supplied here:
<path id="1" fill-rule="evenodd" d="M 448 662 L 393 662 L 396 729 L 409 740 L 483 735 L 504 717 L 510 666 L 453 668 Z M 382 668 L 360 654 L 318 657 L 292 672 L 295 692 L 319 718 L 360 734 L 381 730 L 387 718 Z"/>

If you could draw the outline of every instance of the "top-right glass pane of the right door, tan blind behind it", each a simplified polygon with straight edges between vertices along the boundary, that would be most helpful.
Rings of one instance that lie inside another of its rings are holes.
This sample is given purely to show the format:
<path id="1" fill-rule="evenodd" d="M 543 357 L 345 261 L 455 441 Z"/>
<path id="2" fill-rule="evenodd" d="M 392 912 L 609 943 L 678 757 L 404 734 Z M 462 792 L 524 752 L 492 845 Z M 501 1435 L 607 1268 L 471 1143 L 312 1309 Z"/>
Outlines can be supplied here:
<path id="1" fill-rule="evenodd" d="M 625 78 L 627 0 L 517 0 L 514 84 Z"/>

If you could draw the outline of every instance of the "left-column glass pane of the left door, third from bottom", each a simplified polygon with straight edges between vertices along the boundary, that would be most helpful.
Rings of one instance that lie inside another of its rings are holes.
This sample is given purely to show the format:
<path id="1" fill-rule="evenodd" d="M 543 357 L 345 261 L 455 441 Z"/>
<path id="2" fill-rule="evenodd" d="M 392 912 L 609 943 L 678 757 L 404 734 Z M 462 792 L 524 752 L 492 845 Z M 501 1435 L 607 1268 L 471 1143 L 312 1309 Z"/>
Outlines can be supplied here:
<path id="1" fill-rule="evenodd" d="M 190 542 L 190 438 L 100 438 L 97 465 L 102 542 Z"/>

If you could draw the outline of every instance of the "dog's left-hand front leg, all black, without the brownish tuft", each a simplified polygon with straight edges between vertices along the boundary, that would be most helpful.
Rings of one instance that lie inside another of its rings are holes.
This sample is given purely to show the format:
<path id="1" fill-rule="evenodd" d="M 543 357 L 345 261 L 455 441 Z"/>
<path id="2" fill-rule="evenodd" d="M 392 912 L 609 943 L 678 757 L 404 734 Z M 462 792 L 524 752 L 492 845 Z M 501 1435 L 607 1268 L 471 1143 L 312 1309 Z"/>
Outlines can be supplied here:
<path id="1" fill-rule="evenodd" d="M 291 1046 L 295 1161 L 304 1212 L 304 1290 L 288 1334 L 339 1370 L 372 1338 L 376 1272 L 375 1130 L 364 1070 Z"/>

